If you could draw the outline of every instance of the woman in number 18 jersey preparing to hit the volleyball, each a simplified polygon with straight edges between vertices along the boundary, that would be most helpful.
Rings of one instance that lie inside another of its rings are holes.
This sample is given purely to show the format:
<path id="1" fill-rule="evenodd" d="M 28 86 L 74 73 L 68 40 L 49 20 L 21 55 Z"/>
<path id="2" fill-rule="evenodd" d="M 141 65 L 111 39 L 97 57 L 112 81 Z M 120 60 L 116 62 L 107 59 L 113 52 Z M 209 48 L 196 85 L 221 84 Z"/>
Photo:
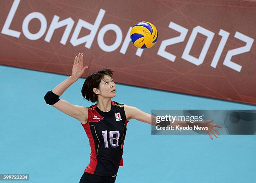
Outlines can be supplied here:
<path id="1" fill-rule="evenodd" d="M 67 88 L 77 81 L 84 70 L 83 53 L 78 54 L 74 59 L 72 75 L 57 85 L 45 95 L 46 103 L 60 110 L 67 115 L 79 120 L 89 138 L 91 146 L 90 163 L 84 170 L 80 183 L 114 183 L 119 166 L 123 166 L 123 144 L 126 134 L 126 125 L 130 119 L 136 119 L 148 124 L 156 125 L 151 115 L 144 113 L 138 108 L 120 104 L 111 100 L 115 97 L 115 83 L 112 79 L 113 71 L 103 69 L 92 73 L 84 81 L 81 94 L 84 99 L 90 100 L 95 105 L 86 108 L 59 99 Z M 209 127 L 203 130 L 218 136 L 218 130 L 211 124 L 213 120 L 202 121 L 202 126 Z M 187 123 L 174 121 L 170 125 L 180 124 L 187 126 Z"/>

